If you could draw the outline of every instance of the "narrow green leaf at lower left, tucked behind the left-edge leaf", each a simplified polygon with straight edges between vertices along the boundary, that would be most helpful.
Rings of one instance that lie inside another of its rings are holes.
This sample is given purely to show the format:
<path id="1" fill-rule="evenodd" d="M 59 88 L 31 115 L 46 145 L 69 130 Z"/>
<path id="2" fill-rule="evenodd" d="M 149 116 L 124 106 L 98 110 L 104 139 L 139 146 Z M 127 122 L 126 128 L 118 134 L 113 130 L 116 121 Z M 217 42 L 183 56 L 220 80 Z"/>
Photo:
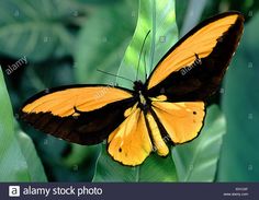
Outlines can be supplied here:
<path id="1" fill-rule="evenodd" d="M 32 181 L 47 181 L 42 162 L 37 156 L 36 150 L 31 138 L 21 130 L 18 130 L 18 140 L 23 156 L 27 163 L 27 172 Z"/>

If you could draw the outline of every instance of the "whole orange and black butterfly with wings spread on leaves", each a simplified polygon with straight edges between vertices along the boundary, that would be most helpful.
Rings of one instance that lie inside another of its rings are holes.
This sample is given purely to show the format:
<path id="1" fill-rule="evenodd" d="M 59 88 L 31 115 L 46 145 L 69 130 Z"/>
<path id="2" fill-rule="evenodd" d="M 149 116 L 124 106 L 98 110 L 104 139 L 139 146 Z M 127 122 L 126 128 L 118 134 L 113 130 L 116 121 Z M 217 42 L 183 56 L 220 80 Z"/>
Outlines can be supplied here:
<path id="1" fill-rule="evenodd" d="M 133 90 L 111 85 L 70 85 L 30 98 L 21 118 L 69 142 L 97 144 L 125 165 L 139 165 L 155 149 L 198 137 L 205 101 L 219 86 L 243 34 L 238 12 L 213 16 L 190 31 L 161 58 L 145 83 Z"/>

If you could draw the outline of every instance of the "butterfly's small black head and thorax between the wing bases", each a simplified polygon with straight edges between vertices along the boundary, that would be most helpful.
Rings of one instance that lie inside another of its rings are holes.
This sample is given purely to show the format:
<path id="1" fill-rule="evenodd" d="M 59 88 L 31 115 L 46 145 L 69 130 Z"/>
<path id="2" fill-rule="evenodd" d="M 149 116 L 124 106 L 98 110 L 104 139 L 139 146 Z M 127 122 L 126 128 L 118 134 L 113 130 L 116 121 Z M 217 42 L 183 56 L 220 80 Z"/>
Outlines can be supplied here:
<path id="1" fill-rule="evenodd" d="M 149 107 L 149 98 L 146 95 L 147 90 L 145 84 L 142 81 L 135 81 L 133 90 L 138 101 L 138 107 L 140 107 L 143 110 L 147 110 Z"/>

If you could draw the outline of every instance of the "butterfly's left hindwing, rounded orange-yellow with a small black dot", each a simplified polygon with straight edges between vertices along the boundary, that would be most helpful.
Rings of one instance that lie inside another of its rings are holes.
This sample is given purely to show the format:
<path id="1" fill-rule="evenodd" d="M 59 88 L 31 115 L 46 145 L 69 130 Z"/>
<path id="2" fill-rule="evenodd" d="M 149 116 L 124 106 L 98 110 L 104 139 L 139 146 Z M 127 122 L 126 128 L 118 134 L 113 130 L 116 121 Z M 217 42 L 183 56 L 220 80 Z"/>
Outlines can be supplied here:
<path id="1" fill-rule="evenodd" d="M 153 144 L 143 111 L 132 108 L 128 117 L 109 137 L 110 155 L 124 165 L 139 165 L 150 154 Z"/>

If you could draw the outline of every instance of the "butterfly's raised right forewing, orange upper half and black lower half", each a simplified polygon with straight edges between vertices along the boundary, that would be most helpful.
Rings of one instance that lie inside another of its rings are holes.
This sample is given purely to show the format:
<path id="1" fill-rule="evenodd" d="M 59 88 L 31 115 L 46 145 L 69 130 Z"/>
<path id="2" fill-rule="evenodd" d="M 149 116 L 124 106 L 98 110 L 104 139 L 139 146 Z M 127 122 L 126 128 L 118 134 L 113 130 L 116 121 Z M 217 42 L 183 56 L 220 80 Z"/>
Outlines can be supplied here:
<path id="1" fill-rule="evenodd" d="M 213 16 L 190 31 L 159 61 L 147 81 L 148 95 L 170 102 L 204 101 L 218 89 L 239 43 L 238 12 Z"/>

